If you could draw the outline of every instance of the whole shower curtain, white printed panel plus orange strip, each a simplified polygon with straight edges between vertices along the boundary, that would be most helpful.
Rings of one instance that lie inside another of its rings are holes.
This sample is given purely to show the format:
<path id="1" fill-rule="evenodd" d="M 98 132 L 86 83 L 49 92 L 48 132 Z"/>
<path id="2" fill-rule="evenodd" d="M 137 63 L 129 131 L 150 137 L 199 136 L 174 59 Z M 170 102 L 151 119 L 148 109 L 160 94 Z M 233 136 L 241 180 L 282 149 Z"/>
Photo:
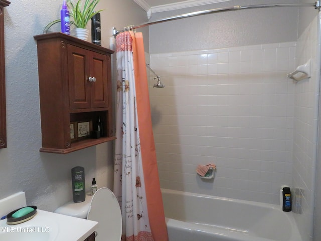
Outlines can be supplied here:
<path id="1" fill-rule="evenodd" d="M 142 34 L 120 33 L 116 45 L 114 194 L 122 213 L 121 240 L 166 241 Z"/>

